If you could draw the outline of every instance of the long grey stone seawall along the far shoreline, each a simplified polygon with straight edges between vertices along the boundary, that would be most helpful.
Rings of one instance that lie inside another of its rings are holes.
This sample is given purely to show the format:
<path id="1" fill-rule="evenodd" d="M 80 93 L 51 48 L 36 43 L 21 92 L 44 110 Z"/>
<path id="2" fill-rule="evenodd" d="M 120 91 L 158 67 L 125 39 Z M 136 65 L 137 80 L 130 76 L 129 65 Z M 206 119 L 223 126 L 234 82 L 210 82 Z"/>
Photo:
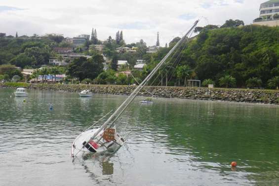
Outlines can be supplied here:
<path id="1" fill-rule="evenodd" d="M 0 87 L 16 87 L 8 83 L 0 83 Z M 23 86 L 23 85 L 20 85 Z M 26 88 L 40 90 L 55 90 L 80 92 L 89 89 L 98 94 L 129 95 L 135 86 L 126 85 L 76 85 L 76 84 L 30 84 L 24 83 Z M 161 87 L 146 86 L 145 89 L 158 97 L 199 99 L 199 100 L 222 100 L 230 102 L 266 103 L 279 105 L 278 90 L 255 90 L 255 89 L 226 89 L 226 88 L 193 88 L 193 87 Z M 151 96 L 142 90 L 139 95 Z"/>

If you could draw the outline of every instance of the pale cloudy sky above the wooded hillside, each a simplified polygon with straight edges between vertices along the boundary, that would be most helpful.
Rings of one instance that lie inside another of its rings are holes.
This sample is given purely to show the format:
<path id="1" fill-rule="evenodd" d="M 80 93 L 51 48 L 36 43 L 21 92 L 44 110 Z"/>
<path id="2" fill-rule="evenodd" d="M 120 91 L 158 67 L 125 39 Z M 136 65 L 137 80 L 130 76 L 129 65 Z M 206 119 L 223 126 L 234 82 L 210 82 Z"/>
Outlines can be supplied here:
<path id="1" fill-rule="evenodd" d="M 259 17 L 267 0 L 0 0 L 0 33 L 15 36 L 46 33 L 75 37 L 97 30 L 100 40 L 123 31 L 126 43 L 143 39 L 160 45 L 182 37 L 193 23 L 223 25 Z"/>

